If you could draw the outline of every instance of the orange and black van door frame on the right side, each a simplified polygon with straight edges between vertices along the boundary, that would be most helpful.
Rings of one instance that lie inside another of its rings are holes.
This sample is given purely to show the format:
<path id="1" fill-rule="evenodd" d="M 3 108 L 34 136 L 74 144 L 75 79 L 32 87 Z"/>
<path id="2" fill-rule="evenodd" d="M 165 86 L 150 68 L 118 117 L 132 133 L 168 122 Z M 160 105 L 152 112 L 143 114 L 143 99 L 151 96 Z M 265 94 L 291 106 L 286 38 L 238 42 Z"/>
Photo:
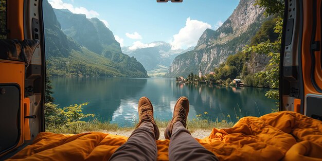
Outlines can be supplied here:
<path id="1" fill-rule="evenodd" d="M 285 1 L 280 110 L 322 120 L 321 0 Z"/>

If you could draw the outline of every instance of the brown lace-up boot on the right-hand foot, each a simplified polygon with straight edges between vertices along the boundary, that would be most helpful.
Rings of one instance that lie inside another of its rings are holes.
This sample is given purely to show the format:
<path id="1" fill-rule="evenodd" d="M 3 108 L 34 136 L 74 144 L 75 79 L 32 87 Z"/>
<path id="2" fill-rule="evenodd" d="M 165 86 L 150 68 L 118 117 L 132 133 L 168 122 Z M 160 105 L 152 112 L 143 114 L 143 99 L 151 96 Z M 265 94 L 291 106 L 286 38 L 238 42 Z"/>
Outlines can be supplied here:
<path id="1" fill-rule="evenodd" d="M 189 113 L 189 100 L 187 97 L 180 97 L 175 105 L 173 110 L 173 117 L 171 122 L 168 124 L 165 130 L 165 138 L 170 139 L 172 134 L 173 124 L 177 121 L 182 122 L 183 126 L 187 127 L 187 117 Z"/>

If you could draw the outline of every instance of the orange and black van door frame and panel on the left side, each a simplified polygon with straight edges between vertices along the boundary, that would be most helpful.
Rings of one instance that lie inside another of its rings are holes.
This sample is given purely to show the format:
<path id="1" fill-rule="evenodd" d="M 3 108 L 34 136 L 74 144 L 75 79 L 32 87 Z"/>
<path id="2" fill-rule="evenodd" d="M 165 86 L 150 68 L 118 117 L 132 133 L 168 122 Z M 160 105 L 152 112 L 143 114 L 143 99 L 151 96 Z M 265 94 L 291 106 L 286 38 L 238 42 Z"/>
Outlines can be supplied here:
<path id="1" fill-rule="evenodd" d="M 32 139 L 45 130 L 45 52 L 42 1 L 1 0 L 0 9 L 2 160 L 31 144 Z M 32 44 L 34 46 L 28 46 Z M 25 57 L 27 52 L 31 54 L 29 59 Z"/>

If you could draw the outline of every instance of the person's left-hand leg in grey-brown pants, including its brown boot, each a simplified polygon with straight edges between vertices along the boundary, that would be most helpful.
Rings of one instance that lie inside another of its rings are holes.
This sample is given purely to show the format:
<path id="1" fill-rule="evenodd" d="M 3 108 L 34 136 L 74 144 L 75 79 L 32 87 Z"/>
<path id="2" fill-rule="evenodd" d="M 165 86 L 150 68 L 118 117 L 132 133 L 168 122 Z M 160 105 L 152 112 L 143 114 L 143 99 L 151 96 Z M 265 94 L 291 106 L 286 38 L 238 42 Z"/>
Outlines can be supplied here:
<path id="1" fill-rule="evenodd" d="M 153 118 L 153 106 L 147 97 L 138 103 L 139 123 L 128 141 L 120 146 L 110 160 L 156 160 L 155 140 L 159 139 L 159 129 Z"/>

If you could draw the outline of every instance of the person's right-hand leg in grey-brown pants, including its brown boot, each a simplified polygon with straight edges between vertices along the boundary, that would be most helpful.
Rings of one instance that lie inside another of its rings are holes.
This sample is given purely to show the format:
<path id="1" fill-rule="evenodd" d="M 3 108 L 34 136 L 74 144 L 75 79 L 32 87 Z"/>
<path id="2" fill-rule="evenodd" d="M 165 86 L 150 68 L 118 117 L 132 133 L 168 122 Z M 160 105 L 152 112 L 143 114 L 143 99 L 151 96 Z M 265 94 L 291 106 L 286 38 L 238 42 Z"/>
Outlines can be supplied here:
<path id="1" fill-rule="evenodd" d="M 188 113 L 189 100 L 180 97 L 174 105 L 172 120 L 165 130 L 165 138 L 170 139 L 169 160 L 218 160 L 186 129 Z"/>

